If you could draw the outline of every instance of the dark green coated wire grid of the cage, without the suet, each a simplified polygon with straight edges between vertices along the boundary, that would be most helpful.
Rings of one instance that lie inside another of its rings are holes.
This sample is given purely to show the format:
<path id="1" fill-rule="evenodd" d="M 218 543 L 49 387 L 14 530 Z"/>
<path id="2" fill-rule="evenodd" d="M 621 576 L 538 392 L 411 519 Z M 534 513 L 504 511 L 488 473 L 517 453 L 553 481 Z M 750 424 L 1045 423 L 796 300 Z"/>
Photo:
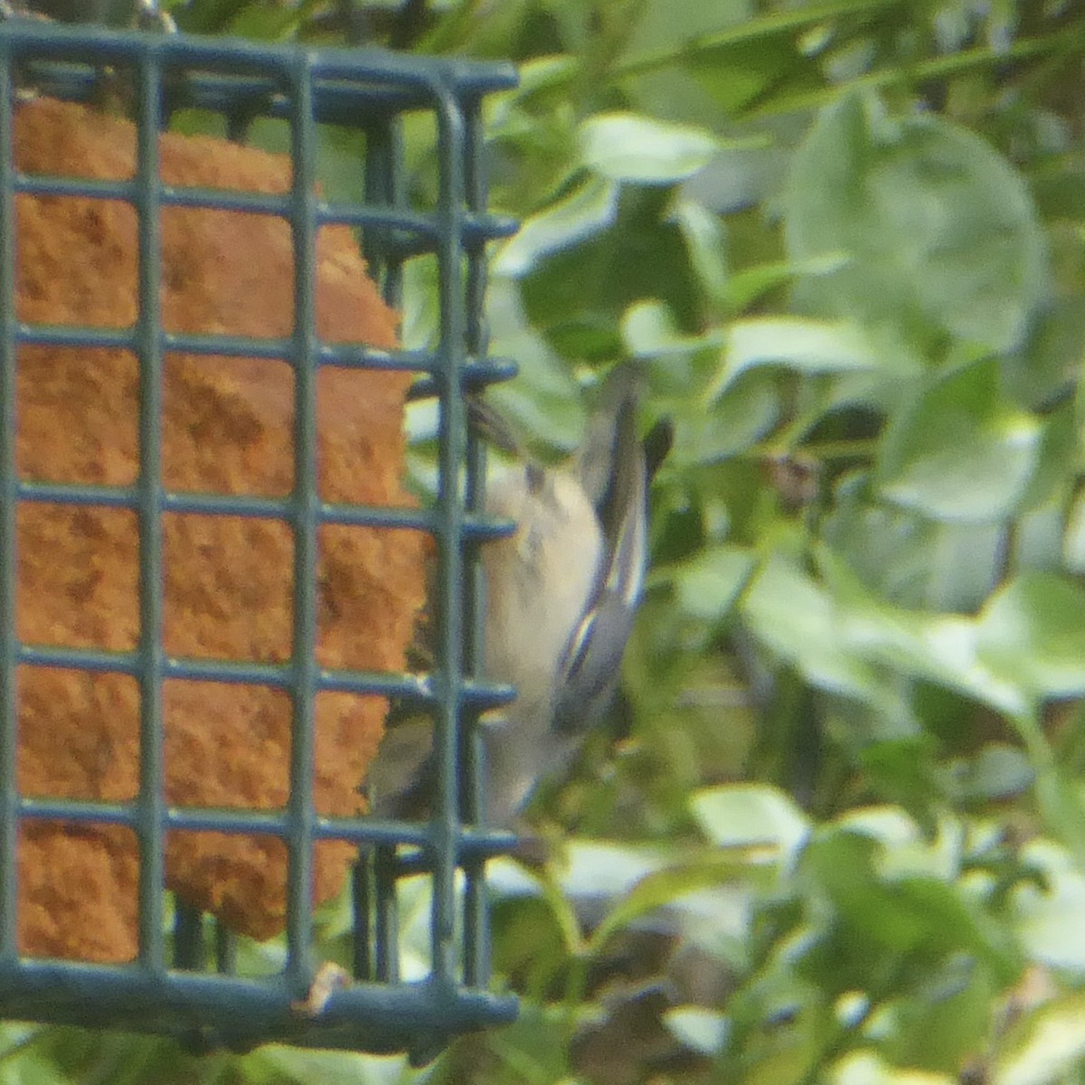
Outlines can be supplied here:
<path id="1" fill-rule="evenodd" d="M 30 177 L 13 167 L 15 73 L 52 97 L 88 100 L 110 65 L 131 79 L 138 124 L 136 176 L 128 181 Z M 508 65 L 400 58 L 378 50 L 306 50 L 182 36 L 117 34 L 30 20 L 0 25 L 0 1014 L 46 1022 L 114 1026 L 177 1035 L 196 1047 L 238 1049 L 276 1039 L 369 1051 L 408 1050 L 432 1057 L 451 1035 L 509 1021 L 515 1001 L 486 991 L 488 922 L 482 884 L 487 856 L 509 843 L 468 831 L 463 809 L 478 808 L 476 740 L 460 726 L 508 699 L 471 680 L 478 643 L 481 586 L 472 544 L 497 533 L 477 513 L 482 451 L 469 437 L 464 391 L 510 374 L 486 357 L 481 317 L 485 245 L 512 224 L 486 214 L 481 103 L 513 86 Z M 222 115 L 231 135 L 257 116 L 285 119 L 293 187 L 285 196 L 164 186 L 157 132 L 184 105 Z M 436 206 L 412 208 L 400 165 L 398 122 L 427 111 L 437 128 Z M 315 195 L 316 126 L 366 133 L 366 199 L 329 204 Z M 139 218 L 139 316 L 129 329 L 44 327 L 15 319 L 14 195 L 18 192 L 126 201 Z M 164 332 L 158 311 L 159 209 L 167 205 L 257 210 L 292 225 L 295 331 L 284 341 Z M 439 272 L 439 342 L 433 352 L 330 345 L 315 331 L 315 239 L 331 222 L 365 228 L 365 255 L 385 298 L 397 305 L 404 261 L 435 254 Z M 127 348 L 140 359 L 136 485 L 107 487 L 21 481 L 15 469 L 16 352 L 24 344 Z M 161 483 L 162 370 L 166 352 L 282 359 L 295 382 L 295 483 L 285 499 L 166 492 Z M 376 509 L 320 500 L 316 488 L 316 374 L 319 366 L 386 368 L 422 374 L 419 387 L 439 397 L 438 499 L 430 510 Z M 465 490 L 460 486 L 467 477 Z M 15 511 L 18 502 L 135 510 L 139 520 L 140 638 L 132 652 L 46 648 L 15 635 Z M 168 656 L 163 647 L 164 512 L 269 518 L 294 533 L 293 658 L 289 664 Z M 320 669 L 316 633 L 317 531 L 321 524 L 411 527 L 433 534 L 438 576 L 434 602 L 438 666 L 432 676 Z M 140 686 L 140 780 L 131 803 L 26 799 L 16 790 L 16 667 L 30 664 L 133 676 Z M 282 812 L 170 808 L 163 793 L 162 687 L 166 678 L 268 686 L 293 697 L 291 794 Z M 318 690 L 408 699 L 436 723 L 439 783 L 434 815 L 408 825 L 375 818 L 316 815 L 312 801 L 314 699 Z M 140 850 L 139 956 L 101 966 L 21 958 L 16 947 L 16 844 L 21 821 L 125 826 Z M 167 960 L 164 842 L 169 830 L 271 834 L 288 860 L 286 962 L 267 979 L 232 975 L 235 946 L 217 931 L 214 970 L 205 970 L 203 918 L 177 909 L 173 960 Z M 337 991 L 315 1017 L 295 1003 L 314 976 L 311 855 L 318 840 L 359 845 L 355 878 L 356 982 Z M 406 845 L 406 846 L 405 846 Z M 406 857 L 405 857 L 406 856 Z M 430 871 L 432 969 L 420 983 L 397 979 L 395 883 L 412 869 Z M 465 889 L 457 889 L 462 871 Z M 459 920 L 459 921 L 458 921 Z"/>

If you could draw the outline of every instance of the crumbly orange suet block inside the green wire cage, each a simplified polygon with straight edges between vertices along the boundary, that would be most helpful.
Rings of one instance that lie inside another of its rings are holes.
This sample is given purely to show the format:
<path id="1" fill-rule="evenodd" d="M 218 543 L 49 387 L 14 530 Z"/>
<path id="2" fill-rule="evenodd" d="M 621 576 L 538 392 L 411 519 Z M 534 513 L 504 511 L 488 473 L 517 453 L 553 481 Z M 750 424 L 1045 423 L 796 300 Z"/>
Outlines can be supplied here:
<path id="1" fill-rule="evenodd" d="M 48 99 L 15 113 L 27 174 L 122 180 L 135 174 L 126 122 Z M 161 138 L 168 184 L 283 193 L 285 157 L 210 138 Z M 122 201 L 16 196 L 17 310 L 31 323 L 127 328 L 138 316 L 138 218 Z M 162 210 L 162 321 L 167 331 L 286 337 L 294 328 L 289 224 L 270 215 Z M 350 230 L 317 241 L 317 330 L 330 342 L 396 345 Z M 323 369 L 318 379 L 320 495 L 410 506 L 404 488 L 409 375 Z M 255 358 L 165 359 L 163 481 L 181 492 L 282 497 L 293 486 L 293 372 Z M 127 486 L 139 474 L 140 375 L 126 350 L 21 348 L 17 467 L 24 480 Z M 285 523 L 164 516 L 164 637 L 178 656 L 282 663 L 292 650 L 294 542 Z M 423 603 L 419 533 L 320 531 L 322 666 L 400 669 Z M 17 626 L 30 644 L 130 651 L 139 639 L 139 527 L 128 510 L 22 502 Z M 138 684 L 22 666 L 18 786 L 27 796 L 125 802 L 138 790 Z M 383 732 L 381 698 L 316 705 L 317 807 L 353 815 Z M 291 702 L 267 688 L 169 680 L 166 794 L 177 806 L 277 809 L 288 797 Z M 353 848 L 317 847 L 315 902 L 342 886 Z M 24 824 L 20 945 L 27 954 L 136 955 L 138 850 L 126 829 Z M 239 931 L 285 921 L 285 847 L 271 838 L 171 832 L 167 882 Z"/>

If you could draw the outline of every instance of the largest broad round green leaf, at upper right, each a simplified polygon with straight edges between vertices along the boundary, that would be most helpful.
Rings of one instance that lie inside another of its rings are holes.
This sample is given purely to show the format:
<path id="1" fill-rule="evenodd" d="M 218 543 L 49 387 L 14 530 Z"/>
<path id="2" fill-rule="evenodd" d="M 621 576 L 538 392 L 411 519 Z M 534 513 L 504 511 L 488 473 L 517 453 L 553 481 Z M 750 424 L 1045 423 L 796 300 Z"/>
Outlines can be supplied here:
<path id="1" fill-rule="evenodd" d="M 810 311 L 1013 349 L 1046 292 L 1043 233 L 1022 178 L 974 133 L 930 114 L 891 118 L 872 97 L 827 108 L 794 158 L 786 208 L 796 259 L 845 252 L 805 280 Z"/>

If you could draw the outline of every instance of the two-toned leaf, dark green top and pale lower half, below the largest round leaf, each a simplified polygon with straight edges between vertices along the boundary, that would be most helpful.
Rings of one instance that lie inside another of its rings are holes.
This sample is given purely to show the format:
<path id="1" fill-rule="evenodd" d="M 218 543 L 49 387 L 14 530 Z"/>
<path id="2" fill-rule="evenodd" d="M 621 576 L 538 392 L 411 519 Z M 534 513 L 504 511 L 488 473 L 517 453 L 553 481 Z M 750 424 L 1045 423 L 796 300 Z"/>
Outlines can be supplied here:
<path id="1" fill-rule="evenodd" d="M 1009 515 L 1036 471 L 1043 426 L 999 392 L 998 366 L 980 361 L 936 381 L 897 413 L 882 441 L 880 493 L 935 520 Z"/>

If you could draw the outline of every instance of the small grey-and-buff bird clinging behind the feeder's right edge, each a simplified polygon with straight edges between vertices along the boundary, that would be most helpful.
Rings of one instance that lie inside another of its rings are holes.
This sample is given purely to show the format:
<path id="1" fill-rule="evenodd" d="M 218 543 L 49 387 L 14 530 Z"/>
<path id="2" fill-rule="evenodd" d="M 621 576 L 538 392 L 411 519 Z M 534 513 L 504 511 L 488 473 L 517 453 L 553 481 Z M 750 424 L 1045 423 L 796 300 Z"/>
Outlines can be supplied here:
<path id="1" fill-rule="evenodd" d="M 672 442 L 666 420 L 640 437 L 638 384 L 631 367 L 612 371 L 579 450 L 552 468 L 522 456 L 488 403 L 469 403 L 484 439 L 521 459 L 486 486 L 486 512 L 514 529 L 482 547 L 484 673 L 516 690 L 481 722 L 486 828 L 515 828 L 537 784 L 569 767 L 614 697 L 643 593 L 648 489 Z M 370 771 L 380 816 L 426 808 L 434 761 L 422 749 L 429 729 L 414 729 L 391 728 Z"/>

